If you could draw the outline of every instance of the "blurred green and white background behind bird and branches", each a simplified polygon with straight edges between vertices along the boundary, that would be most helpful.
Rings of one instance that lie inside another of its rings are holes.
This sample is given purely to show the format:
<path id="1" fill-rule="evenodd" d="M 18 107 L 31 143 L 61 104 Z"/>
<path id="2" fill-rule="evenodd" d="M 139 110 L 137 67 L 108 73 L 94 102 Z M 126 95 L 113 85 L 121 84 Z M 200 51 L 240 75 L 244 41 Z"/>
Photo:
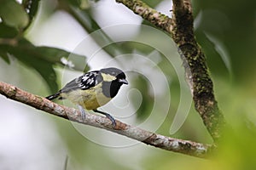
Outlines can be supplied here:
<path id="1" fill-rule="evenodd" d="M 172 15 L 169 0 L 144 2 Z M 47 96 L 83 71 L 114 65 L 126 71 L 130 84 L 104 110 L 156 133 L 212 144 L 193 104 L 182 126 L 169 133 L 178 106 L 191 100 L 187 91 L 187 99 L 181 97 L 181 59 L 166 33 L 124 5 L 112 0 L 0 4 L 0 81 Z M 67 157 L 67 169 L 255 169 L 256 2 L 193 1 L 193 10 L 196 39 L 232 127 L 210 159 L 139 144 L 0 96 L 0 169 L 64 169 Z"/>

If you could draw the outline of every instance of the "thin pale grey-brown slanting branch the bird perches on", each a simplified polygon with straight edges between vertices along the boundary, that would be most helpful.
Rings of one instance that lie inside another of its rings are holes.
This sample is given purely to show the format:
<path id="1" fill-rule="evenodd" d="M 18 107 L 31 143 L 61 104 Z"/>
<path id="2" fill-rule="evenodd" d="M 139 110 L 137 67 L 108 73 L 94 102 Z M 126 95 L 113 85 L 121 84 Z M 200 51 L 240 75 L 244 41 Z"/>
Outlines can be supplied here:
<path id="1" fill-rule="evenodd" d="M 48 99 L 29 94 L 5 82 L 0 82 L 0 94 L 3 94 L 9 99 L 14 99 L 20 103 L 30 105 L 38 110 L 46 111 L 51 115 L 60 116 L 67 120 L 83 123 L 92 127 L 100 127 L 163 150 L 170 150 L 189 156 L 207 157 L 212 149 L 215 148 L 215 146 L 211 144 L 201 144 L 189 140 L 174 139 L 157 133 L 148 132 L 139 127 L 132 127 L 131 125 L 119 121 L 116 121 L 116 127 L 112 127 L 112 123 L 108 118 L 103 116 L 87 114 L 85 119 L 82 120 L 81 113 L 73 108 L 58 105 Z"/>

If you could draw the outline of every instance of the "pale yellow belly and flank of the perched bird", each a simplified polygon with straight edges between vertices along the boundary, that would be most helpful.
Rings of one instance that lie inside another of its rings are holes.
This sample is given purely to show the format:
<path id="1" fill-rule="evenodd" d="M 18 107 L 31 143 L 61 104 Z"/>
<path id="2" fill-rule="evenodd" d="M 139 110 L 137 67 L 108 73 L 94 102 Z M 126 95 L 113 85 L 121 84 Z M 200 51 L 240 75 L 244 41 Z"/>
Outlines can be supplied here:
<path id="1" fill-rule="evenodd" d="M 82 105 L 86 110 L 95 110 L 111 100 L 102 94 L 102 83 L 86 90 L 77 89 L 61 94 L 61 97 L 69 99 L 73 104 Z"/>

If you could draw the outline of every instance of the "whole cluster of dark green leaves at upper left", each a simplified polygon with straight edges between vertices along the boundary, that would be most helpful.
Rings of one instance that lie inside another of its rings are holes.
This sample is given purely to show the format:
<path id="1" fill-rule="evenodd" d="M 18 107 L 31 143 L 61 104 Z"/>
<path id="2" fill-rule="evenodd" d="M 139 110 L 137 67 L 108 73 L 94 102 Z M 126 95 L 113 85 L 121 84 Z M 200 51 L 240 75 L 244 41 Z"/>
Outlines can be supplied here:
<path id="1" fill-rule="evenodd" d="M 32 25 L 39 1 L 23 1 L 19 4 L 15 0 L 3 0 L 1 3 L 0 57 L 7 63 L 10 57 L 15 57 L 38 71 L 54 93 L 58 90 L 54 65 L 65 66 L 66 63 L 61 59 L 68 59 L 70 53 L 60 48 L 36 47 L 26 39 L 26 29 Z M 82 55 L 73 54 L 73 59 L 71 62 L 75 64 L 85 62 Z M 78 65 L 74 65 L 73 69 L 83 71 Z"/>

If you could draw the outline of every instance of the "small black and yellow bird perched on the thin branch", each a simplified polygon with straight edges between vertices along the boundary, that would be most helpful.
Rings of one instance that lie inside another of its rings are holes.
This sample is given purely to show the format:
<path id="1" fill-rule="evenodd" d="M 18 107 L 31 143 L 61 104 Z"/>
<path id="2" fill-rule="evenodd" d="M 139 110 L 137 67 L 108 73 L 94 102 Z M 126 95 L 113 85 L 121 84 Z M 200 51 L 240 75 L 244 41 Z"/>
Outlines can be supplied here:
<path id="1" fill-rule="evenodd" d="M 116 122 L 113 117 L 106 112 L 98 111 L 97 108 L 113 99 L 123 84 L 128 84 L 123 71 L 113 67 L 104 68 L 100 71 L 87 72 L 73 79 L 56 94 L 49 95 L 46 99 L 69 99 L 73 104 L 79 105 L 83 119 L 84 109 L 92 110 L 107 116 L 115 127 Z"/>

